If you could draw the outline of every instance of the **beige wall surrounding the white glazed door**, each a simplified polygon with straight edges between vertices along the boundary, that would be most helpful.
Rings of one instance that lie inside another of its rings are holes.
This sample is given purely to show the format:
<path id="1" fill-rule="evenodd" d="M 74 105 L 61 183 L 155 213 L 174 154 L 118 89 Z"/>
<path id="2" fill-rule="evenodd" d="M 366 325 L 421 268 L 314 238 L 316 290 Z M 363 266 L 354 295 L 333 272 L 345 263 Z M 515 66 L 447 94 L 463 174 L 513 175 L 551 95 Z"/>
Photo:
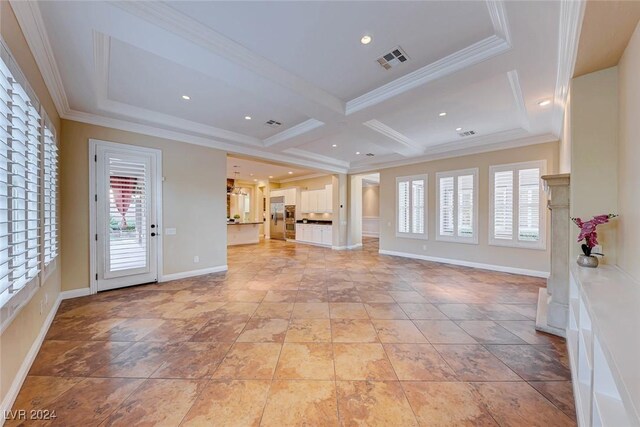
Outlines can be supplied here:
<path id="1" fill-rule="evenodd" d="M 61 186 L 63 290 L 89 286 L 90 138 L 162 150 L 163 274 L 218 267 L 227 263 L 226 153 L 100 126 L 62 121 Z M 194 256 L 199 263 L 193 262 Z"/>

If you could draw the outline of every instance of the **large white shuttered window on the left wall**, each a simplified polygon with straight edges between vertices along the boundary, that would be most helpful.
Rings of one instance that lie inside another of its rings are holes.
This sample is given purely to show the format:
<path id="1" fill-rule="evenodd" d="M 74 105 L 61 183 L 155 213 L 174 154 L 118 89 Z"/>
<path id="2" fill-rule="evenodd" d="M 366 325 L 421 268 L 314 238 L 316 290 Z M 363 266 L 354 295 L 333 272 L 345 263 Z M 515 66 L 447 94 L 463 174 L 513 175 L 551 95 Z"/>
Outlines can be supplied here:
<path id="1" fill-rule="evenodd" d="M 57 255 L 53 126 L 0 39 L 0 327 L 33 296 Z"/>

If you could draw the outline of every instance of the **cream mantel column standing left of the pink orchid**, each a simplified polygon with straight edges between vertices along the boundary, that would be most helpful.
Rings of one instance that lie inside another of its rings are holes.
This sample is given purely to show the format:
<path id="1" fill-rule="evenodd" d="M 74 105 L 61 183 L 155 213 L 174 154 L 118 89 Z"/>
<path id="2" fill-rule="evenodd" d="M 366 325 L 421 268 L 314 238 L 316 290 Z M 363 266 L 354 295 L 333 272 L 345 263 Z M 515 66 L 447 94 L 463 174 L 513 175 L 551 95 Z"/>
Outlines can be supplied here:
<path id="1" fill-rule="evenodd" d="M 542 177 L 549 194 L 551 211 L 551 271 L 547 288 L 540 289 L 536 329 L 561 337 L 566 336 L 569 312 L 569 186 L 570 175 Z"/>

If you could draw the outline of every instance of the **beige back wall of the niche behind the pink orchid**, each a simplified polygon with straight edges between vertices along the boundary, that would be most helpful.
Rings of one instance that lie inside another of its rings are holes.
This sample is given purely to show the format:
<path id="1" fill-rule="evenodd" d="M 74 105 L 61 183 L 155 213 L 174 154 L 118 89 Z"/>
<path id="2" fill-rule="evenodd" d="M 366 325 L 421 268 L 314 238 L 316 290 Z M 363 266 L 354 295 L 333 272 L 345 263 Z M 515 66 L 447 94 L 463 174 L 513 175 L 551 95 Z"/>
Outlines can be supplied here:
<path id="1" fill-rule="evenodd" d="M 571 216 L 615 213 L 618 206 L 618 67 L 571 83 Z M 603 263 L 616 262 L 617 221 L 598 227 Z M 572 234 L 577 237 L 578 228 Z M 571 254 L 582 253 L 580 244 Z"/>

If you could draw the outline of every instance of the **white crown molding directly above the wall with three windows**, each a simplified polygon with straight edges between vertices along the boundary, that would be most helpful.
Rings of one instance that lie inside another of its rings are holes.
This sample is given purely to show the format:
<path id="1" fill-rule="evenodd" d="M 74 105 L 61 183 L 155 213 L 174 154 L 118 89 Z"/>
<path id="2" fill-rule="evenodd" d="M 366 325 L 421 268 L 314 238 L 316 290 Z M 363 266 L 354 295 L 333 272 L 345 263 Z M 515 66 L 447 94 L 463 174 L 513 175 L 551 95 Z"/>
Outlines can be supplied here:
<path id="1" fill-rule="evenodd" d="M 492 135 L 487 135 L 482 138 L 477 138 L 471 146 L 461 146 L 460 144 L 452 146 L 451 144 L 439 144 L 433 147 L 424 156 L 414 157 L 411 159 L 403 159 L 391 162 L 381 162 L 377 164 L 361 165 L 349 169 L 349 173 L 366 173 L 366 172 L 378 172 L 382 169 L 388 169 L 397 166 L 406 166 L 416 163 L 426 163 L 434 160 L 449 159 L 452 157 L 468 156 L 471 154 L 487 153 L 491 151 L 507 150 L 509 148 L 525 147 L 527 145 L 544 144 L 547 142 L 557 142 L 558 138 L 550 133 L 525 136 L 526 131 L 523 129 L 511 129 L 503 132 L 497 132 Z M 512 139 L 516 135 L 520 135 L 520 138 Z M 505 140 L 506 138 L 506 140 Z M 448 147 L 445 147 L 448 145 Z"/>

